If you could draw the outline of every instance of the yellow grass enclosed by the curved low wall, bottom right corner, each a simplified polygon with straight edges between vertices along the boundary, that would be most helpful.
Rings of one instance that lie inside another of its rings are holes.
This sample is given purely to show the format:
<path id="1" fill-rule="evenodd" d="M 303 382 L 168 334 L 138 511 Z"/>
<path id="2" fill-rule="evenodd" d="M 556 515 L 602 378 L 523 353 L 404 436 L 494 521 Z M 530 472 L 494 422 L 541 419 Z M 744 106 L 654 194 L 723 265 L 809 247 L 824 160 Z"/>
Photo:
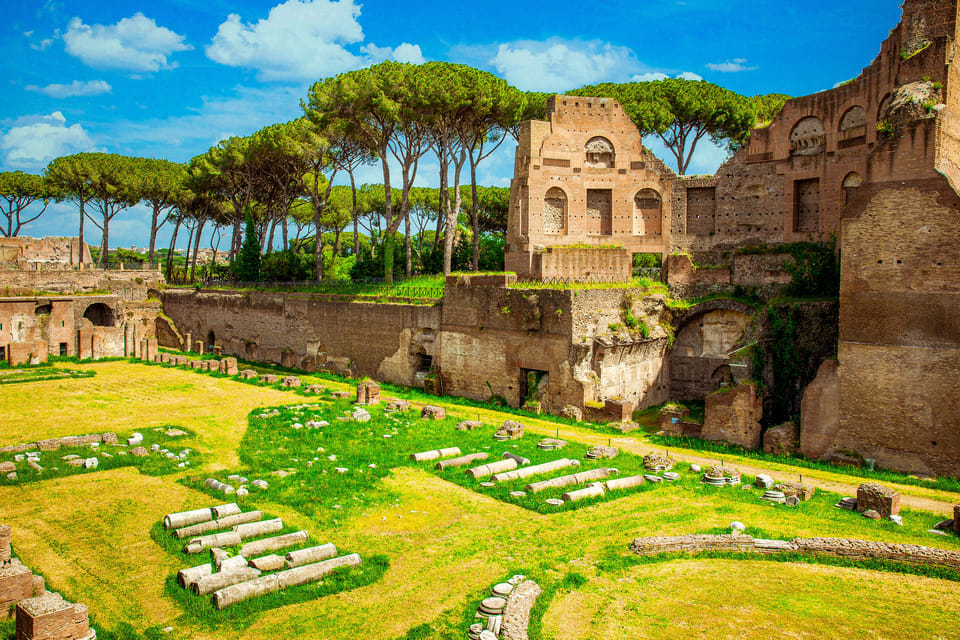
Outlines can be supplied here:
<path id="1" fill-rule="evenodd" d="M 544 630 L 565 640 L 946 639 L 958 637 L 958 591 L 955 582 L 842 567 L 678 560 L 558 592 Z"/>

